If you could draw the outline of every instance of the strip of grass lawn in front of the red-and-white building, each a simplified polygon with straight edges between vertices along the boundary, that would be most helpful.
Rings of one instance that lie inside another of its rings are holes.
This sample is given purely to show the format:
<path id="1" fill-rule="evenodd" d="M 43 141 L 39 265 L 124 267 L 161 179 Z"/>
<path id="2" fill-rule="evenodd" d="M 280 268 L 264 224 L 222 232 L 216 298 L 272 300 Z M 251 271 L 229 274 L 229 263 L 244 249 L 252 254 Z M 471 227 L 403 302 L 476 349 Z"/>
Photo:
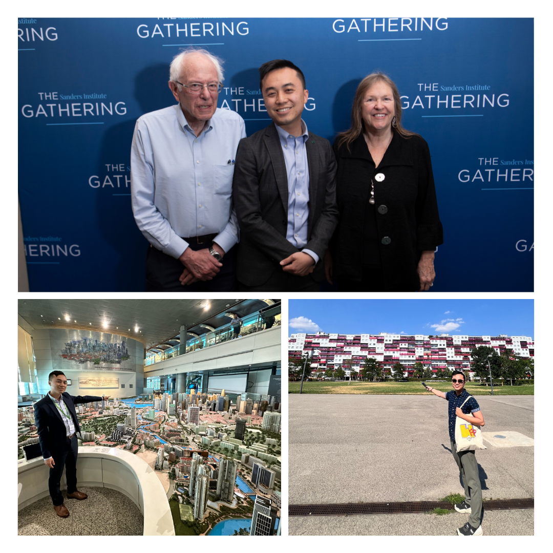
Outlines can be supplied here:
<path id="1" fill-rule="evenodd" d="M 428 379 L 426 384 L 441 392 L 452 390 L 451 382 L 432 382 Z M 468 382 L 465 388 L 472 395 L 491 395 L 489 386 L 483 386 L 476 382 Z M 289 382 L 288 390 L 292 394 L 300 392 L 299 382 Z M 302 394 L 408 394 L 408 395 L 432 395 L 426 392 L 420 382 L 304 382 Z M 534 395 L 534 385 L 523 386 L 495 386 L 494 395 Z"/>

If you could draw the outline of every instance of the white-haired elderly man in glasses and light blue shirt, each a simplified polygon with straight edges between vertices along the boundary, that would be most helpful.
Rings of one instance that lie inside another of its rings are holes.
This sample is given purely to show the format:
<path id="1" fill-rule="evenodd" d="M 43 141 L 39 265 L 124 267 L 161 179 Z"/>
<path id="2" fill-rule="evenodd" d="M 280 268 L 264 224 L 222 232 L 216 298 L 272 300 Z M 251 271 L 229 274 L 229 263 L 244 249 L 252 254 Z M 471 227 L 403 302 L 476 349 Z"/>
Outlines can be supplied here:
<path id="1" fill-rule="evenodd" d="M 134 128 L 131 196 L 148 239 L 147 291 L 232 291 L 238 223 L 232 178 L 238 113 L 217 109 L 222 60 L 187 49 L 170 66 L 179 103 L 144 114 Z"/>

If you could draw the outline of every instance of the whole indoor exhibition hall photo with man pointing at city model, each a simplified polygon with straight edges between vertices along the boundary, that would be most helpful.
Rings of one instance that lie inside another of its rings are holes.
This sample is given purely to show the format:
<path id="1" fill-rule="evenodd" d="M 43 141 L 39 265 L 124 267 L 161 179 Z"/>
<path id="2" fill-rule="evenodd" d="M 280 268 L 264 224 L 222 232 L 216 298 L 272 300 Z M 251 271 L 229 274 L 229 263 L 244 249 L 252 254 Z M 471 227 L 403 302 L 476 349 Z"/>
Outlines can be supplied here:
<path id="1" fill-rule="evenodd" d="M 280 535 L 280 299 L 18 300 L 19 535 Z"/>

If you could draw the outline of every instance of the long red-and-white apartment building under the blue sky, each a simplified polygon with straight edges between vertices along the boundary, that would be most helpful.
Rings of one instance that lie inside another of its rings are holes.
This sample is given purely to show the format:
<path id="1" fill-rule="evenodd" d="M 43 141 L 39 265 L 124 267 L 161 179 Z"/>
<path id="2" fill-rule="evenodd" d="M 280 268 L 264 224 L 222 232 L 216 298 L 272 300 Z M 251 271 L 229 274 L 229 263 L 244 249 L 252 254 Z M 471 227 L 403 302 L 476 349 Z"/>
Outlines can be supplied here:
<path id="1" fill-rule="evenodd" d="M 345 359 L 351 359 L 351 368 L 359 371 L 363 361 L 373 357 L 384 369 L 392 369 L 398 361 L 405 367 L 404 375 L 412 376 L 414 364 L 420 361 L 425 368 L 450 371 L 471 371 L 471 351 L 475 347 L 493 347 L 498 354 L 505 349 L 521 357 L 534 357 L 534 340 L 530 336 L 440 336 L 415 334 L 291 334 L 288 338 L 288 356 L 300 359 L 311 356 L 314 371 L 336 369 Z M 346 370 L 349 376 L 349 370 Z M 471 375 L 472 377 L 472 375 Z"/>

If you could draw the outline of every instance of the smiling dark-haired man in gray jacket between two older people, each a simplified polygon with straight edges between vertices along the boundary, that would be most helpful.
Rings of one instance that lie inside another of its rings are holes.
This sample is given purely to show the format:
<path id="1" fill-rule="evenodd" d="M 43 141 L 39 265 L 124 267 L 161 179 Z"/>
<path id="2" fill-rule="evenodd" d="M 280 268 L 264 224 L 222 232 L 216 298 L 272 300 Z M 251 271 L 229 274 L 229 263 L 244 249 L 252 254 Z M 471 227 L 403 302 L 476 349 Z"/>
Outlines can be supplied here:
<path id="1" fill-rule="evenodd" d="M 259 74 L 273 123 L 243 138 L 236 153 L 239 290 L 319 291 L 338 222 L 336 160 L 330 142 L 301 119 L 309 93 L 299 67 L 273 60 Z"/>

